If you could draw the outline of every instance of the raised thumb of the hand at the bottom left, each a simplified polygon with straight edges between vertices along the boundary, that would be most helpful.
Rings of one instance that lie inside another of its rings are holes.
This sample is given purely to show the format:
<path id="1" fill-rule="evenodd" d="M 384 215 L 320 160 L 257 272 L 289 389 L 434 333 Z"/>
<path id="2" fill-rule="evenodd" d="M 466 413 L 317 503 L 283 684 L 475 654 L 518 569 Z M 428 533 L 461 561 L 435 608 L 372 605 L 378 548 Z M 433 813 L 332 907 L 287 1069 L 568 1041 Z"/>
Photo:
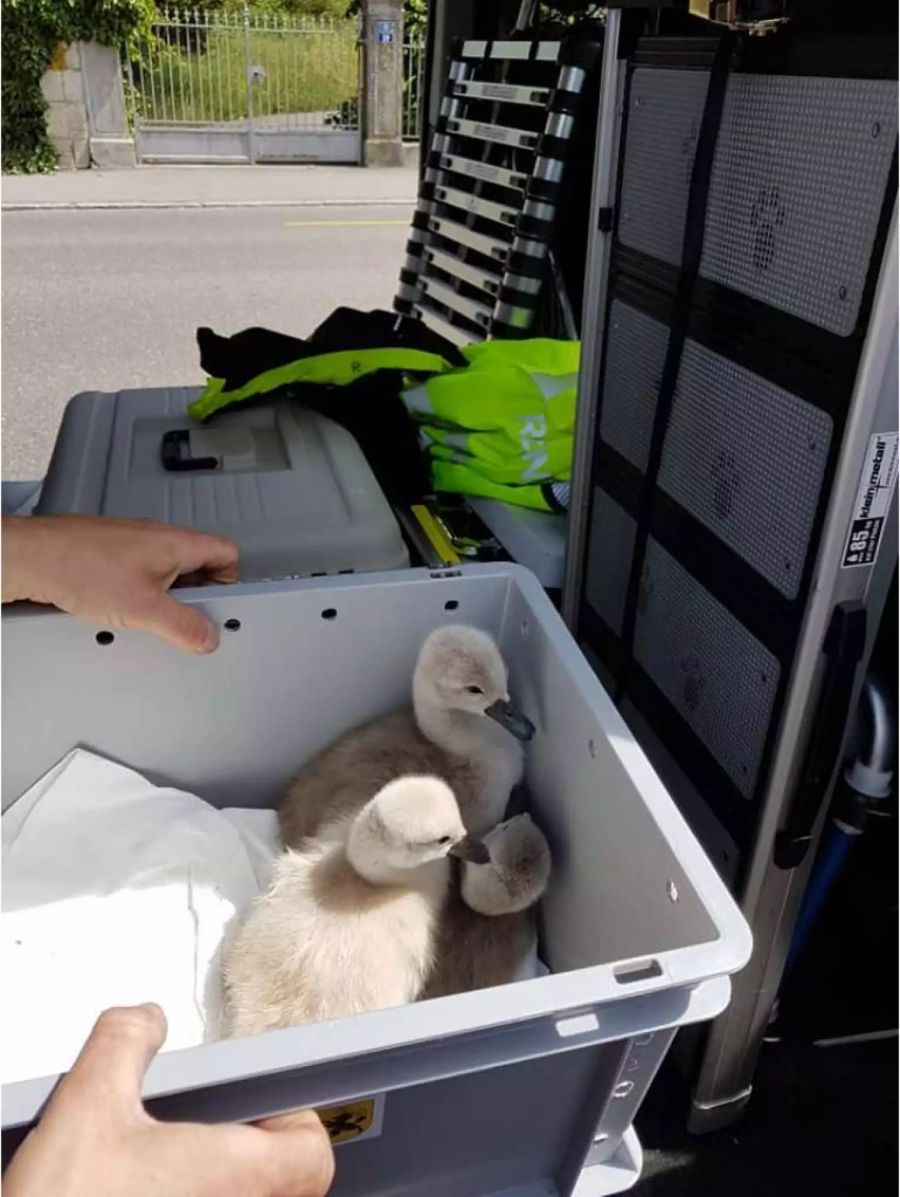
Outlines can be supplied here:
<path id="1" fill-rule="evenodd" d="M 73 1107 L 81 1117 L 104 1102 L 126 1117 L 141 1112 L 144 1076 L 165 1033 L 165 1015 L 153 1003 L 104 1010 L 60 1082 L 47 1117 Z"/>

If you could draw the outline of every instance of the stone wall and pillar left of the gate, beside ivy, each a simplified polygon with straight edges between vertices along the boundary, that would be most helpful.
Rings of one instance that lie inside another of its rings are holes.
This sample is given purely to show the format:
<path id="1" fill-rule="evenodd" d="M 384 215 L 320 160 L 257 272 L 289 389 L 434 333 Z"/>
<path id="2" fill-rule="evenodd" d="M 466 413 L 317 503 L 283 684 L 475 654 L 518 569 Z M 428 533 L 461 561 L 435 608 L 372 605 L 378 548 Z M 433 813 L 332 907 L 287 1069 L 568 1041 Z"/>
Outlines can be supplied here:
<path id="1" fill-rule="evenodd" d="M 47 132 L 61 170 L 134 165 L 118 53 L 97 42 L 60 45 L 41 80 Z"/>

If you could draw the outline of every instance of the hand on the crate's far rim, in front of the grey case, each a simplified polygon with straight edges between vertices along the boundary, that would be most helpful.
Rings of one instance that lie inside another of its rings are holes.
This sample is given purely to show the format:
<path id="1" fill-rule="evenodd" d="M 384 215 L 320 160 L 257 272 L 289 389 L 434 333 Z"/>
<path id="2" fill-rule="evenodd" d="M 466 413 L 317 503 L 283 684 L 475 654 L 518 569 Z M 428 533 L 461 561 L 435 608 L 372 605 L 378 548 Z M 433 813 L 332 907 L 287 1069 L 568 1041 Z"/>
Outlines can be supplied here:
<path id="1" fill-rule="evenodd" d="M 110 628 L 153 632 L 188 652 L 219 633 L 168 590 L 186 575 L 237 581 L 238 549 L 224 536 L 153 519 L 4 516 L 4 602 L 29 598 Z"/>

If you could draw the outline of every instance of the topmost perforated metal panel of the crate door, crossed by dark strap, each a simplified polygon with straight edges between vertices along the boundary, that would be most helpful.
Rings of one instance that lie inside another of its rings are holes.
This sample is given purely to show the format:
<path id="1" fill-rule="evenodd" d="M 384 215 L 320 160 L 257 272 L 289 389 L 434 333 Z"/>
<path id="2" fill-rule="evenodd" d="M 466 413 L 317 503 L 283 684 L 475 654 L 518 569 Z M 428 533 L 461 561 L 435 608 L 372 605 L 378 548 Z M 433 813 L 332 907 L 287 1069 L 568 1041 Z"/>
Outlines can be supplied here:
<path id="1" fill-rule="evenodd" d="M 622 244 L 681 260 L 707 75 L 638 69 Z M 846 336 L 857 323 L 898 130 L 882 79 L 729 80 L 700 274 Z"/>

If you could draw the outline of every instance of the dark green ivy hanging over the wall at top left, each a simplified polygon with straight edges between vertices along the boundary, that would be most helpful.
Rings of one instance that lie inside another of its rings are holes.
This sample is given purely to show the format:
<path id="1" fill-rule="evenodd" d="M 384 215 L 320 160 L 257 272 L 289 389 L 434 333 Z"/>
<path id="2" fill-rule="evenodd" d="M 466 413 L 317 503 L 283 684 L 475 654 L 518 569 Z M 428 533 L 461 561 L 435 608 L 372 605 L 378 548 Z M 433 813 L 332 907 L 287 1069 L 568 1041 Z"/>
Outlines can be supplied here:
<path id="1" fill-rule="evenodd" d="M 2 0 L 2 165 L 7 174 L 50 171 L 41 79 L 60 43 L 124 45 L 150 34 L 153 0 Z"/>

